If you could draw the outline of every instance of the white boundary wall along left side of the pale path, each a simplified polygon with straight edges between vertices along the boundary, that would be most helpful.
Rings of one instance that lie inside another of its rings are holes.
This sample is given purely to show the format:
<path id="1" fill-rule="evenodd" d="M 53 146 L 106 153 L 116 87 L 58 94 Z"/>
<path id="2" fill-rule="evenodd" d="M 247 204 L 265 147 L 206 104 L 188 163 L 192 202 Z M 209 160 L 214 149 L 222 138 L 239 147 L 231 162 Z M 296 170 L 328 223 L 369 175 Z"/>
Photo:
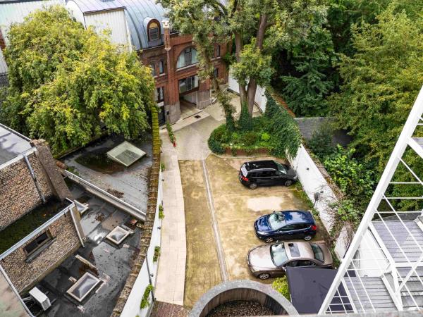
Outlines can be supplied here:
<path id="1" fill-rule="evenodd" d="M 128 300 L 126 301 L 125 307 L 121 313 L 121 317 L 146 317 L 149 316 L 149 313 L 152 309 L 152 294 L 149 295 L 149 306 L 145 309 L 140 309 L 140 304 L 142 300 L 142 295 L 144 295 L 145 288 L 149 285 L 149 274 L 147 270 L 147 261 L 150 278 L 152 280 L 152 285 L 155 287 L 157 280 L 157 268 L 158 261 L 153 262 L 154 256 L 154 247 L 160 247 L 161 244 L 161 234 L 159 227 L 161 226 L 161 219 L 159 219 L 159 205 L 163 199 L 163 182 L 161 182 L 161 171 L 159 173 L 159 190 L 157 192 L 157 206 L 156 206 L 156 218 L 154 218 L 152 240 L 150 241 L 149 248 L 147 251 L 147 257 L 142 263 L 141 271 L 135 280 L 135 284 L 129 294 Z M 154 292 L 154 289 L 153 289 Z"/>

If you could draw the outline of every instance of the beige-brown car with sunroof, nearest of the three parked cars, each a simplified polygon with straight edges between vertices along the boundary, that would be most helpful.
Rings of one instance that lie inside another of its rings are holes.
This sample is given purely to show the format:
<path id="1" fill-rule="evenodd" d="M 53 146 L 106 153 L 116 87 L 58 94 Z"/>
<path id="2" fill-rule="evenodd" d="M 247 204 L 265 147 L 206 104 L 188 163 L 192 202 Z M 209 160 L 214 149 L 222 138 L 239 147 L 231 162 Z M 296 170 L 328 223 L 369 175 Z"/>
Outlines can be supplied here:
<path id="1" fill-rule="evenodd" d="M 285 275 L 288 266 L 332 268 L 333 261 L 325 242 L 281 242 L 250 249 L 247 263 L 252 275 L 266 280 Z"/>

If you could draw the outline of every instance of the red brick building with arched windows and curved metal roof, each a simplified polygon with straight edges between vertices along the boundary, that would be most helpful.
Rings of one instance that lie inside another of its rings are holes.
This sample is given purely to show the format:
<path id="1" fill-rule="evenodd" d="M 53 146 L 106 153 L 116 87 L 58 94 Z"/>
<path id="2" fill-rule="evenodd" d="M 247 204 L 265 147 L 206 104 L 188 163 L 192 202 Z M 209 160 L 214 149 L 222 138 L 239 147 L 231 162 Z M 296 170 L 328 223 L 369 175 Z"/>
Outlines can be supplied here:
<path id="1" fill-rule="evenodd" d="M 135 49 L 142 63 L 152 68 L 161 122 L 176 122 L 184 109 L 202 109 L 211 103 L 210 82 L 198 77 L 192 37 L 172 32 L 160 4 L 152 0 L 68 0 L 66 6 L 85 27 L 111 30 L 112 42 Z M 216 45 L 215 73 L 227 82 L 224 54 L 226 45 Z"/>

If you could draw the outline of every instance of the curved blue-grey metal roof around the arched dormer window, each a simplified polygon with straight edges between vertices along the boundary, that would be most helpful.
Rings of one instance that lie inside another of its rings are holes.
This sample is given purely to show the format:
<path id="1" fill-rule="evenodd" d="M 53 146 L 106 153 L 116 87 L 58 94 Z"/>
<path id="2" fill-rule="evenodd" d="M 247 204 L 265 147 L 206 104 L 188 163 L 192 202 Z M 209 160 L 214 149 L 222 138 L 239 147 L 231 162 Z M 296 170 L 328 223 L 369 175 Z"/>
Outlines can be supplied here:
<path id="1" fill-rule="evenodd" d="M 130 31 L 130 37 L 135 49 L 147 49 L 163 44 L 163 37 L 159 41 L 149 42 L 147 37 L 147 24 L 149 20 L 156 19 L 160 23 L 163 35 L 163 23 L 166 12 L 154 0 L 68 0 L 78 5 L 84 14 L 109 11 L 123 8 Z"/>

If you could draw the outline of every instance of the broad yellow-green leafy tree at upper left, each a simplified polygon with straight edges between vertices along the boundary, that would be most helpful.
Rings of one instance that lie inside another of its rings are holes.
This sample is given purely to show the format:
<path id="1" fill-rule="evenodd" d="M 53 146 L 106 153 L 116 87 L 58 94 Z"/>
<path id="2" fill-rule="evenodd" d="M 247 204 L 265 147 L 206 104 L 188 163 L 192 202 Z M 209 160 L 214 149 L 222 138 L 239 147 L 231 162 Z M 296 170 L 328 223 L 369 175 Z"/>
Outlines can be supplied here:
<path id="1" fill-rule="evenodd" d="M 11 26 L 9 68 L 0 120 L 55 152 L 90 142 L 105 130 L 134 139 L 149 128 L 154 80 L 135 52 L 85 30 L 65 8 L 35 11 Z"/>

